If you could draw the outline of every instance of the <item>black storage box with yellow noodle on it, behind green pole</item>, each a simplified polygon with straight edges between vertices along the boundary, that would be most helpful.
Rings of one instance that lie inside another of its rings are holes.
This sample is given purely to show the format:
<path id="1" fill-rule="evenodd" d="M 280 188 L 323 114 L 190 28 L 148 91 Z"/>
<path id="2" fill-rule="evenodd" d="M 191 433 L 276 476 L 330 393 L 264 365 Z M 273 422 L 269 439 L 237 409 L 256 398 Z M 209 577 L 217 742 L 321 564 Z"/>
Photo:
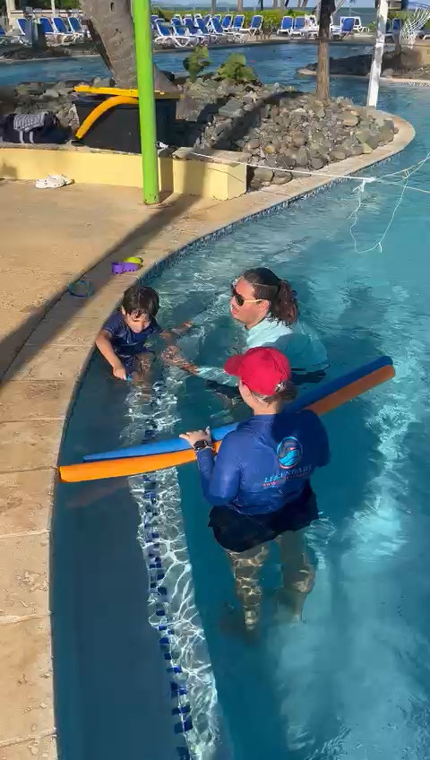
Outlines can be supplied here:
<path id="1" fill-rule="evenodd" d="M 109 95 L 79 95 L 75 99 L 79 122 L 88 117 Z M 155 100 L 157 120 L 157 140 L 167 145 L 174 141 L 176 122 L 176 98 L 157 98 Z M 102 114 L 80 140 L 90 148 L 104 148 L 125 153 L 141 152 L 139 126 L 139 107 L 134 104 L 121 103 L 109 108 Z"/>

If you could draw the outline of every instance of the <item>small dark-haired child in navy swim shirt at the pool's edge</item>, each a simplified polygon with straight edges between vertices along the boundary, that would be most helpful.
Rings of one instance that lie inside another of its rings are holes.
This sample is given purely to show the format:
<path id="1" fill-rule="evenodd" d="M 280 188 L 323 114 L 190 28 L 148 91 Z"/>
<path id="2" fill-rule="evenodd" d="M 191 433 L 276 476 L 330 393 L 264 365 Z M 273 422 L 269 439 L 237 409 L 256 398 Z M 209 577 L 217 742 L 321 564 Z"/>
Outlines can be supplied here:
<path id="1" fill-rule="evenodd" d="M 189 328 L 185 323 L 172 331 L 159 326 L 159 295 L 147 286 L 132 285 L 125 290 L 121 307 L 109 316 L 96 338 L 96 346 L 112 367 L 112 374 L 120 380 L 142 382 L 148 376 L 155 358 L 146 343 L 151 336 L 160 335 L 171 343 L 175 335 Z"/>

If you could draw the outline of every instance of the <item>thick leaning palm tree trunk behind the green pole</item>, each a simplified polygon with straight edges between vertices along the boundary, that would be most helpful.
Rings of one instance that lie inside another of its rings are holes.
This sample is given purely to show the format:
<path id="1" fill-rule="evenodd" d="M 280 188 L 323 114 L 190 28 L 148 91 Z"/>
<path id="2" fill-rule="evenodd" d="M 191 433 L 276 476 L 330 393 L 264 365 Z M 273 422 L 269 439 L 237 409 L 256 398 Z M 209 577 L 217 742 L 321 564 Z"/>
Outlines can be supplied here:
<path id="1" fill-rule="evenodd" d="M 148 0 L 149 2 L 149 0 Z M 133 18 L 129 0 L 82 0 L 91 37 L 117 87 L 136 86 Z M 176 85 L 154 66 L 156 90 L 176 91 Z"/>

